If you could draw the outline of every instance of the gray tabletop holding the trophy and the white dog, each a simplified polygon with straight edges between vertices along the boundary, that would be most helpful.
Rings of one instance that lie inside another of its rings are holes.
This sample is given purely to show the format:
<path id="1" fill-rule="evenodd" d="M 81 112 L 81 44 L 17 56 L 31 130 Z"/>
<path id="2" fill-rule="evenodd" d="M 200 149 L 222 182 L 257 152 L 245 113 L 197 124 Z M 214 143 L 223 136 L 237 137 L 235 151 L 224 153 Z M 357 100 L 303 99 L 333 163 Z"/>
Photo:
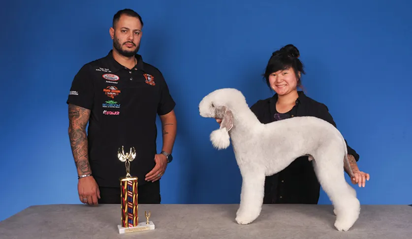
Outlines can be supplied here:
<path id="1" fill-rule="evenodd" d="M 348 232 L 333 227 L 331 205 L 263 205 L 249 225 L 234 221 L 238 205 L 139 205 L 153 231 L 119 234 L 120 205 L 31 206 L 0 222 L 0 239 L 412 239 L 412 207 L 362 205 Z"/>

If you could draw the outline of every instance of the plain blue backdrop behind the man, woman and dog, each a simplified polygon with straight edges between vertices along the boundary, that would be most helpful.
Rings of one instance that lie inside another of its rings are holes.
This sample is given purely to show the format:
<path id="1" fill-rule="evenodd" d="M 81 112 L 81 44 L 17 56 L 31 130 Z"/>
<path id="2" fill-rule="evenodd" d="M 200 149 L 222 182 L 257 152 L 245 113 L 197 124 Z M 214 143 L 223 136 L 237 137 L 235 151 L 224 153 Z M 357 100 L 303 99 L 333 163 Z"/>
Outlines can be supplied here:
<path id="1" fill-rule="evenodd" d="M 222 87 L 241 90 L 250 105 L 270 97 L 261 74 L 271 53 L 292 43 L 306 66 L 307 94 L 329 107 L 360 154 L 359 168 L 371 174 L 365 188 L 355 186 L 361 203 L 412 204 L 411 1 L 310 2 L 2 3 L 0 220 L 30 205 L 80 203 L 66 99 L 79 68 L 111 49 L 109 27 L 123 8 L 142 15 L 139 53 L 162 71 L 177 102 L 162 203 L 239 203 L 232 149 L 212 148 L 218 124 L 201 118 L 197 105 Z M 330 204 L 323 191 L 319 203 Z"/>

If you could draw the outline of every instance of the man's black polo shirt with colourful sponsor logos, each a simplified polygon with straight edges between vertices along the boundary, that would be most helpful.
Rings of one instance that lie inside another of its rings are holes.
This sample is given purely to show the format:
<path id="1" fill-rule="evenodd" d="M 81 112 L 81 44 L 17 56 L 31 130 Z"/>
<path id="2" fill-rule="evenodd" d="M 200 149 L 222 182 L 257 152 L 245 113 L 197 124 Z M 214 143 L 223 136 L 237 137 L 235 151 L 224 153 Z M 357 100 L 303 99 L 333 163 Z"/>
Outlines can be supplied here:
<path id="1" fill-rule="evenodd" d="M 75 75 L 67 103 L 91 110 L 88 128 L 89 162 L 99 186 L 118 187 L 126 175 L 118 148 L 136 150 L 130 174 L 144 184 L 145 174 L 155 167 L 157 115 L 174 106 L 161 72 L 135 55 L 137 64 L 128 69 L 112 56 L 85 64 Z"/>

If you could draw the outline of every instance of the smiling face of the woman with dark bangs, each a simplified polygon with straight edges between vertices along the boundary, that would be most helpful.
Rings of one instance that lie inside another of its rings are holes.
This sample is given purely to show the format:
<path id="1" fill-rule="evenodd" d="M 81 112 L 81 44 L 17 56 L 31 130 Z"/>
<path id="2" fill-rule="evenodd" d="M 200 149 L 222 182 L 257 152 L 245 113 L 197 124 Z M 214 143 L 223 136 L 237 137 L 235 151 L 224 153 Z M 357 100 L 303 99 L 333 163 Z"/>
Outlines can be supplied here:
<path id="1" fill-rule="evenodd" d="M 297 81 L 298 79 L 293 68 L 278 70 L 269 75 L 270 87 L 281 96 L 296 91 Z"/>

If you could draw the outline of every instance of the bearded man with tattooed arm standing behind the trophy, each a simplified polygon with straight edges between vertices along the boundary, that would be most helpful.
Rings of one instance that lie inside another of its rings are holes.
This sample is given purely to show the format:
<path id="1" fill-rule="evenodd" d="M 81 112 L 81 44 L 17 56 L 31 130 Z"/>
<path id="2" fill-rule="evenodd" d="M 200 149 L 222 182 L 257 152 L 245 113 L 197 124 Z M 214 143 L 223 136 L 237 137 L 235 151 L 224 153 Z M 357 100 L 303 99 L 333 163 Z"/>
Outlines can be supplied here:
<path id="1" fill-rule="evenodd" d="M 143 22 L 130 9 L 113 17 L 113 49 L 85 64 L 68 96 L 69 139 L 82 203 L 120 204 L 125 163 L 117 152 L 131 147 L 130 174 L 138 177 L 139 204 L 159 204 L 159 179 L 172 160 L 176 137 L 175 102 L 161 72 L 137 54 Z M 162 151 L 156 148 L 156 117 L 162 125 Z M 89 123 L 88 134 L 86 125 Z"/>

